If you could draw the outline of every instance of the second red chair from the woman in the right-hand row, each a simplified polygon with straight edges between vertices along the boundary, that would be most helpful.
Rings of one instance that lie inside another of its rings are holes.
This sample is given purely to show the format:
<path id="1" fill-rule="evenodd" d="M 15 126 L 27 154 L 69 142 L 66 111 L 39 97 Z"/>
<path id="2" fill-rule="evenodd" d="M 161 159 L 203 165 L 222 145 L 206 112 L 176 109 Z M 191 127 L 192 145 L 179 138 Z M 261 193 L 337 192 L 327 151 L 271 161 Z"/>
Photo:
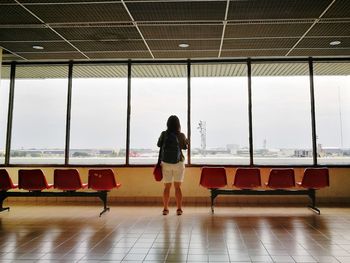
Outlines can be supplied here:
<path id="1" fill-rule="evenodd" d="M 261 186 L 260 170 L 257 168 L 238 168 L 233 185 L 241 189 L 254 189 Z"/>

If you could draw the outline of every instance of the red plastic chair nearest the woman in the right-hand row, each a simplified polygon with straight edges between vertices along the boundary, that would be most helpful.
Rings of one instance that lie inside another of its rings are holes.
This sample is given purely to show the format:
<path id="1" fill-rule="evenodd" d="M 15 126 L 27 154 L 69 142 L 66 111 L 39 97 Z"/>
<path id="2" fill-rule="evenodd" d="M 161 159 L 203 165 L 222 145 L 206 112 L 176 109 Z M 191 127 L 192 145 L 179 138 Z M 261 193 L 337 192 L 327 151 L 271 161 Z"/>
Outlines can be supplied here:
<path id="1" fill-rule="evenodd" d="M 227 186 L 225 168 L 203 167 L 199 184 L 209 189 L 216 189 Z"/>

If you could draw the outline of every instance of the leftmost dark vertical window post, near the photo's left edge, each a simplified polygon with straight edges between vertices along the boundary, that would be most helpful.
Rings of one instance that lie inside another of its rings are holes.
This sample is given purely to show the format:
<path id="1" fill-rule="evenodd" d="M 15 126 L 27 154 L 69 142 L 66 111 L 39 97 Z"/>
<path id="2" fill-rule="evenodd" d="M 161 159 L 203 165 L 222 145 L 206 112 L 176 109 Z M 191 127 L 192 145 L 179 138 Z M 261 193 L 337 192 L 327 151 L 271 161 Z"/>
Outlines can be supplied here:
<path id="1" fill-rule="evenodd" d="M 9 107 L 7 112 L 7 133 L 6 133 L 6 146 L 5 146 L 5 165 L 6 166 L 9 165 L 10 163 L 15 78 L 16 78 L 16 62 L 12 62 L 11 71 L 10 71 L 10 92 L 9 92 Z"/>

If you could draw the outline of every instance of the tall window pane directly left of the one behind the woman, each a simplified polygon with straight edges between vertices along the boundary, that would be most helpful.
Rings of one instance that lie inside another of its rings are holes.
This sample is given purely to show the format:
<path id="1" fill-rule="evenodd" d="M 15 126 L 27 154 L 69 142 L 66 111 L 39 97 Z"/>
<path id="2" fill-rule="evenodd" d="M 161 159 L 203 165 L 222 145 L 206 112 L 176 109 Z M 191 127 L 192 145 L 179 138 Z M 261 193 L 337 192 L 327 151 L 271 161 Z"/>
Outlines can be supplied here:
<path id="1" fill-rule="evenodd" d="M 73 68 L 70 164 L 125 164 L 127 66 Z"/>

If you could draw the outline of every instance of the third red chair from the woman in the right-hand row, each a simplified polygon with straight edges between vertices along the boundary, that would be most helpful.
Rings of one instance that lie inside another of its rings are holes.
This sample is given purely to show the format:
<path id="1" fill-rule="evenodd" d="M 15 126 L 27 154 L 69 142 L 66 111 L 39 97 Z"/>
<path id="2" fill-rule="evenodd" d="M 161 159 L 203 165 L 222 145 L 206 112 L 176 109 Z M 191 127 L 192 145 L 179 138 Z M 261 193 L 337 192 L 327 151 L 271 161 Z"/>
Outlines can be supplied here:
<path id="1" fill-rule="evenodd" d="M 271 169 L 269 181 L 266 184 L 273 189 L 286 189 L 295 187 L 293 169 Z"/>

